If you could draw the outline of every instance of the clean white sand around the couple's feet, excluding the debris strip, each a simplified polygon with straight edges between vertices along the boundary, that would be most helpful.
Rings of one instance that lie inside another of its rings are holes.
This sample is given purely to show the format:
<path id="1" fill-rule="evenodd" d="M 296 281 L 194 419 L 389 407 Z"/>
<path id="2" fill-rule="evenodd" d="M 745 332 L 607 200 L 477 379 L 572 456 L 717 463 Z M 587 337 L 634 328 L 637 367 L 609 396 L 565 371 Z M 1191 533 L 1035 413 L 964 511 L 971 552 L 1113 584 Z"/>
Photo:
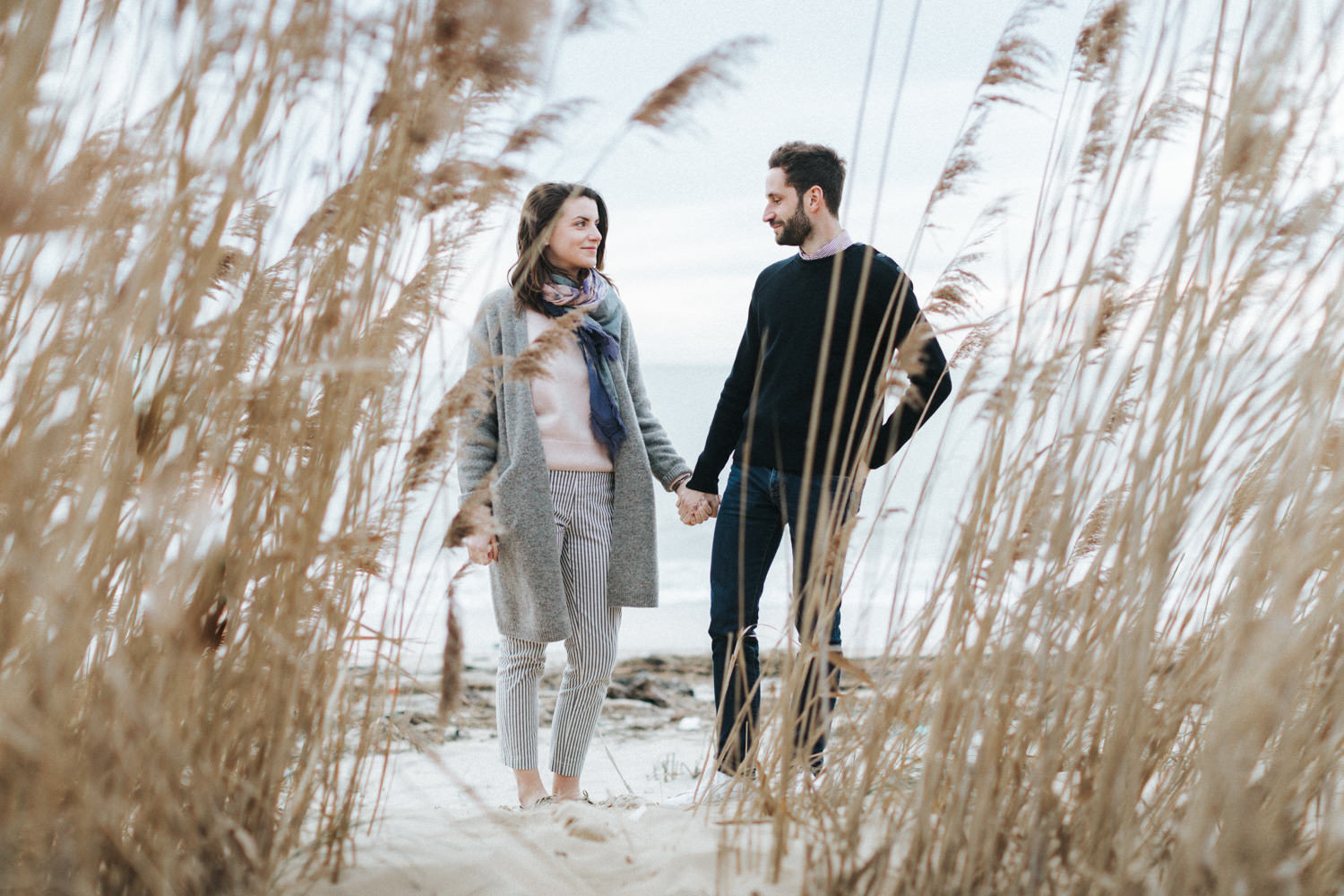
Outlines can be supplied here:
<path id="1" fill-rule="evenodd" d="M 685 729 L 692 724 L 628 733 L 629 721 L 605 723 L 583 774 L 599 803 L 593 806 L 505 809 L 515 801 L 512 774 L 500 764 L 491 732 L 464 732 L 433 752 L 407 750 L 394 758 L 383 785 L 379 822 L 356 837 L 353 866 L 337 884 L 312 892 L 800 892 L 798 849 L 780 880 L 769 880 L 767 826 L 719 823 L 723 807 L 659 805 L 695 786 L 692 770 L 707 754 L 708 729 L 707 720 Z"/>

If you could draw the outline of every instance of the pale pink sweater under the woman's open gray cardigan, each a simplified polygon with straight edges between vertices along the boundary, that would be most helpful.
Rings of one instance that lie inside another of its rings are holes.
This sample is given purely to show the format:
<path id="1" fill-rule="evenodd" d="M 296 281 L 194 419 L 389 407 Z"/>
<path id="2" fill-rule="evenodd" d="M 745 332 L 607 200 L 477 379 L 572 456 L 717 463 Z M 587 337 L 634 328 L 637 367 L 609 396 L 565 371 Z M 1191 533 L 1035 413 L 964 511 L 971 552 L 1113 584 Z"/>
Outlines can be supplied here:
<path id="1" fill-rule="evenodd" d="M 555 326 L 555 321 L 534 310 L 527 312 L 527 337 Z M 564 348 L 547 359 L 546 376 L 532 380 L 532 408 L 542 430 L 546 466 L 551 470 L 610 472 L 612 457 L 589 424 L 587 365 L 577 339 L 563 341 Z"/>

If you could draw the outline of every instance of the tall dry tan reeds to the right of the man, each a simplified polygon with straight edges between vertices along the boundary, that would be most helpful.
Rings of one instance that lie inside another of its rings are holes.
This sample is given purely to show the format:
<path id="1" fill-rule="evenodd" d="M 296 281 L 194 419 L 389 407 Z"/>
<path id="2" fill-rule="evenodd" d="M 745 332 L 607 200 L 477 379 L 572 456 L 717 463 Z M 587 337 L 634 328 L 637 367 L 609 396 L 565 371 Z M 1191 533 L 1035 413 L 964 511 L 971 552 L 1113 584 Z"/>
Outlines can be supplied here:
<path id="1" fill-rule="evenodd" d="M 1038 12 L 930 211 L 1020 105 L 1004 86 L 1046 83 Z M 954 541 L 930 594 L 902 563 L 891 598 L 925 609 L 841 696 L 825 776 L 781 699 L 726 810 L 767 814 L 774 868 L 804 850 L 804 892 L 1344 887 L 1344 13 L 1206 12 L 1093 11 L 1023 279 L 984 296 L 972 240 L 933 289 L 935 322 L 997 309 L 953 357 L 950 426 L 982 434 Z M 927 494 L 914 525 L 949 512 Z"/>

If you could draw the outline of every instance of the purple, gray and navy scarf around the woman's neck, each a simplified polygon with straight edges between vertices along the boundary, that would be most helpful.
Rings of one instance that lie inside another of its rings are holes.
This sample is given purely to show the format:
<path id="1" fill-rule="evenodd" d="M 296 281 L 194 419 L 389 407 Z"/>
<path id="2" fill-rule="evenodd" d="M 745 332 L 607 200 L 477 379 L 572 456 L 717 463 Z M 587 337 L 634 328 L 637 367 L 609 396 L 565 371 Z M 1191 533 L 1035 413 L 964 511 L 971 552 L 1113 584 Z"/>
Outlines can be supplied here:
<path id="1" fill-rule="evenodd" d="M 625 423 L 621 420 L 616 380 L 612 377 L 612 364 L 621 360 L 621 304 L 606 301 L 613 292 L 612 285 L 595 267 L 587 270 L 579 285 L 569 278 L 552 279 L 555 282 L 542 287 L 542 308 L 547 314 L 563 317 L 575 308 L 587 312 L 574 334 L 589 368 L 589 424 L 593 435 L 614 459 L 617 449 L 625 441 Z"/>

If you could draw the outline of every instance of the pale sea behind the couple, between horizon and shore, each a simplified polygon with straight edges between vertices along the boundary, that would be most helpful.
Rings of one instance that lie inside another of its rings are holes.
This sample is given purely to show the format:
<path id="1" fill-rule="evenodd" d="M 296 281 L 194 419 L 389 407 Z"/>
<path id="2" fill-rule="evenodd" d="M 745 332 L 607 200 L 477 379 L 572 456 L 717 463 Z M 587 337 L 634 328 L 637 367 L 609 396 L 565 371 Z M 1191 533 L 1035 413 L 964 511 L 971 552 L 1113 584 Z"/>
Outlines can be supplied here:
<path id="1" fill-rule="evenodd" d="M 722 364 L 642 365 L 653 411 L 672 443 L 695 465 L 728 372 Z M 898 457 L 875 470 L 864 489 L 859 525 L 845 562 L 841 631 L 849 656 L 878 656 L 914 619 L 930 609 L 938 571 L 956 532 L 956 514 L 973 469 L 976 445 L 956 437 L 953 414 L 939 412 Z M 720 488 L 727 469 L 720 476 Z M 710 545 L 714 521 L 683 525 L 672 494 L 657 493 L 659 606 L 622 613 L 620 654 L 688 656 L 707 653 L 710 638 Z M 915 513 L 915 508 L 919 512 Z M 444 514 L 446 516 L 446 513 Z M 362 652 L 395 646 L 396 662 L 415 674 L 442 662 L 449 606 L 462 629 L 468 662 L 495 662 L 499 634 L 482 567 L 465 564 L 465 552 L 441 551 L 431 520 L 411 563 L 386 588 L 375 588 L 363 617 Z M 789 614 L 793 560 L 788 539 L 766 580 L 758 635 L 762 649 L 794 635 Z M 379 635 L 371 633 L 378 631 Z M 367 643 L 366 643 L 367 642 Z M 563 657 L 563 645 L 548 656 Z M 563 660 L 558 660 L 563 662 Z"/>

